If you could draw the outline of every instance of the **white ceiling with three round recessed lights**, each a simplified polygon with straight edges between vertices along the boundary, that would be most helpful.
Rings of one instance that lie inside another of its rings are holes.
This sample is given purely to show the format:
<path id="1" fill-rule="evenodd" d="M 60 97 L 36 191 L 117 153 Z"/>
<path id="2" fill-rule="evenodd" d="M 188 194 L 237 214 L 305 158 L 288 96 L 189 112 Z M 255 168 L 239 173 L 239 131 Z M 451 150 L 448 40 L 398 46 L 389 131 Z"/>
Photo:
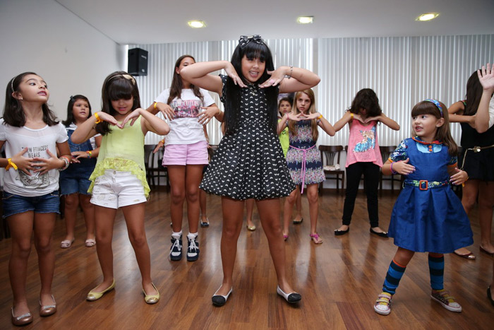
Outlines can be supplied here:
<path id="1" fill-rule="evenodd" d="M 291 37 L 494 33 L 494 0 L 56 0 L 115 42 L 157 44 Z M 421 13 L 437 12 L 430 22 Z M 311 25 L 296 17 L 314 16 Z M 187 20 L 204 20 L 193 29 Z"/>

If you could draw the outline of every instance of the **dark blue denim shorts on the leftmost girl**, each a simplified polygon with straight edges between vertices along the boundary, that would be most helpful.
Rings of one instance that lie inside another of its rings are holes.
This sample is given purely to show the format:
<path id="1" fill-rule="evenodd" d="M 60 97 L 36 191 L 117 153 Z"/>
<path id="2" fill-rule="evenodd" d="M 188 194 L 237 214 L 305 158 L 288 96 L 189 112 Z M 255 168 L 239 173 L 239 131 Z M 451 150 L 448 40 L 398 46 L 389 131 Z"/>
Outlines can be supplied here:
<path id="1" fill-rule="evenodd" d="M 25 197 L 4 191 L 2 198 L 4 203 L 3 218 L 8 218 L 17 213 L 35 211 L 35 213 L 60 213 L 59 191 L 35 197 Z"/>

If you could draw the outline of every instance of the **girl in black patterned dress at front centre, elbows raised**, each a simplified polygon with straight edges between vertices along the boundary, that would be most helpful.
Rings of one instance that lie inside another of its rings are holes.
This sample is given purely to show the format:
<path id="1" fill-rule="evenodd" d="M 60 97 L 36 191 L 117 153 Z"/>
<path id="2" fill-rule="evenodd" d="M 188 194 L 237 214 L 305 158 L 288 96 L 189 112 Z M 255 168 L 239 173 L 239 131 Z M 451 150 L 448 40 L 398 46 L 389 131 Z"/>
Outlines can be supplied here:
<path id="1" fill-rule="evenodd" d="M 228 76 L 208 73 L 222 70 Z M 224 305 L 232 292 L 236 243 L 242 228 L 243 203 L 255 199 L 275 264 L 277 293 L 298 302 L 287 281 L 285 252 L 279 220 L 279 197 L 295 189 L 276 132 L 277 95 L 317 85 L 319 77 L 305 69 L 280 66 L 275 70 L 270 49 L 259 35 L 241 36 L 229 61 L 210 61 L 187 66 L 181 76 L 195 86 L 218 93 L 225 107 L 226 134 L 201 189 L 222 196 L 221 240 L 223 281 L 212 296 Z"/>

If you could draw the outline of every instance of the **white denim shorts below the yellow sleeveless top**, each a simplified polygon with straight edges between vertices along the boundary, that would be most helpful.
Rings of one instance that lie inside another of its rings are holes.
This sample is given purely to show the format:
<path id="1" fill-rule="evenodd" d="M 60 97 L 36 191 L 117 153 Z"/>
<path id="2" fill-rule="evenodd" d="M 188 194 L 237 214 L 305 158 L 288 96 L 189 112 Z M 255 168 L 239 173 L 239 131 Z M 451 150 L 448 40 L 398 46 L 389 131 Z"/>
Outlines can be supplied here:
<path id="1" fill-rule="evenodd" d="M 105 170 L 95 179 L 91 203 L 107 208 L 121 208 L 145 202 L 143 183 L 131 172 Z"/>

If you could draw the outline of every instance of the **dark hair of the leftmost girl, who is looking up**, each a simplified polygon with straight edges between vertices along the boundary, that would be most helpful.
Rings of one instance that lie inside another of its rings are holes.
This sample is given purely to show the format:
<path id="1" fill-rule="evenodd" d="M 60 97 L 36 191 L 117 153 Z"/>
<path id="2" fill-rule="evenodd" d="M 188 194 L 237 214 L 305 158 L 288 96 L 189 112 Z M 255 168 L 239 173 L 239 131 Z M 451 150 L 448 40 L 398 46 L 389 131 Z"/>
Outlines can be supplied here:
<path id="1" fill-rule="evenodd" d="M 6 92 L 5 92 L 5 105 L 4 105 L 4 123 L 10 126 L 22 127 L 25 125 L 25 114 L 20 101 L 13 97 L 13 93 L 18 91 L 20 83 L 23 81 L 25 76 L 28 74 L 34 74 L 39 76 L 34 72 L 23 72 L 13 77 L 8 81 Z M 54 126 L 59 122 L 56 121 L 56 115 L 52 110 L 49 109 L 47 103 L 43 103 L 41 106 L 43 110 L 43 122 L 48 126 Z"/>

